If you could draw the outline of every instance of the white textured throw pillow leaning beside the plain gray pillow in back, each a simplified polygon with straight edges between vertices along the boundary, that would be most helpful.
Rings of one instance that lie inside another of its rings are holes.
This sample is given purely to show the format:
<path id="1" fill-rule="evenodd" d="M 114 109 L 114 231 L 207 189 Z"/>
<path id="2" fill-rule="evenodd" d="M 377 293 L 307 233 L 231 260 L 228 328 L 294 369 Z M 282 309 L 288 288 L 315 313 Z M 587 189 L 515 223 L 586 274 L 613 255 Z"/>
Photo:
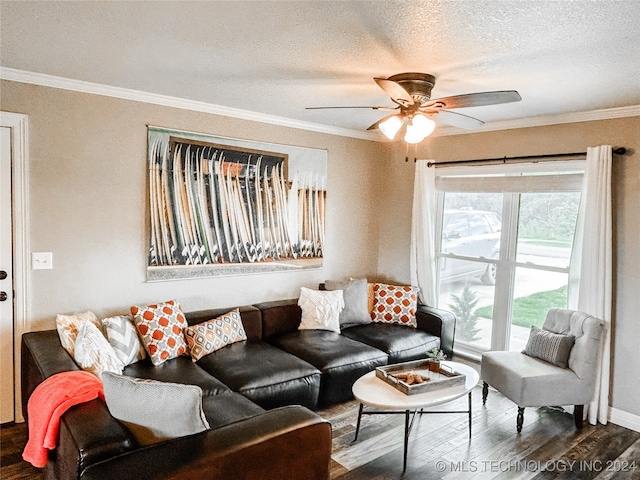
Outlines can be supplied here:
<path id="1" fill-rule="evenodd" d="M 331 330 L 340 333 L 342 290 L 319 291 L 302 287 L 298 305 L 302 309 L 300 330 Z"/>

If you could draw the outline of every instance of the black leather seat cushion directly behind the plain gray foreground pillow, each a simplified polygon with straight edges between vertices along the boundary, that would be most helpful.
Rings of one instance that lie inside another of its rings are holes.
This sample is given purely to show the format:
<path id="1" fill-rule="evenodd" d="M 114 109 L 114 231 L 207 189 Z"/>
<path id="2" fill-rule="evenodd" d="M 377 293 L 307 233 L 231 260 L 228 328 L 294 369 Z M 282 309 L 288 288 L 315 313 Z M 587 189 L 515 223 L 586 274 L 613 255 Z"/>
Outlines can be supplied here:
<path id="1" fill-rule="evenodd" d="M 130 377 L 149 378 L 161 382 L 197 385 L 202 389 L 204 396 L 230 391 L 228 386 L 209 375 L 189 357 L 172 358 L 157 366 L 147 357 L 125 367 L 122 373 Z"/>

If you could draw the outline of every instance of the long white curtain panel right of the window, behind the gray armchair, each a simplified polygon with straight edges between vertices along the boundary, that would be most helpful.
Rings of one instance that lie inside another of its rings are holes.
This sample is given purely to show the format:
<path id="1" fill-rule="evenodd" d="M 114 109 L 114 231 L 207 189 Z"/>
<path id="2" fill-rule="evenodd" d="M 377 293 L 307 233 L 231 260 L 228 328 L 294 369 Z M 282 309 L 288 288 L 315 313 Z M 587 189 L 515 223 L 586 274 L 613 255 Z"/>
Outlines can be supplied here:
<path id="1" fill-rule="evenodd" d="M 569 272 L 569 308 L 605 322 L 589 423 L 607 423 L 611 360 L 612 220 L 611 146 L 587 149 L 587 161 Z"/>

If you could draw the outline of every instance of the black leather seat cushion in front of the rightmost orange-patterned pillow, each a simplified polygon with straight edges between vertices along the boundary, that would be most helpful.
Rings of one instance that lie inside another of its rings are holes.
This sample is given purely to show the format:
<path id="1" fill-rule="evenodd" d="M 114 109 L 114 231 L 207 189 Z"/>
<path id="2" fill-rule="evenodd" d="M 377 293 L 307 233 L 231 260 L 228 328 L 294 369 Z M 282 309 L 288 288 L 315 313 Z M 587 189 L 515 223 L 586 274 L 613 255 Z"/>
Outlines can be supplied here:
<path id="1" fill-rule="evenodd" d="M 389 363 L 425 358 L 425 352 L 440 348 L 440 338 L 422 330 L 384 323 L 345 328 L 342 334 L 389 355 Z"/>

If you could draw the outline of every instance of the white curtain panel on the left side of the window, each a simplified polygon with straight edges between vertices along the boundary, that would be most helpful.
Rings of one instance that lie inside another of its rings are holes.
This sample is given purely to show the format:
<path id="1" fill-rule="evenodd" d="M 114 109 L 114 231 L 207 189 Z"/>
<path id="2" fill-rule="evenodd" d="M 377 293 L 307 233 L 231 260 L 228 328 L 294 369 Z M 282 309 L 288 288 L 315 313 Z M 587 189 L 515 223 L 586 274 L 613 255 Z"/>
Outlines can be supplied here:
<path id="1" fill-rule="evenodd" d="M 411 284 L 420 287 L 420 301 L 436 305 L 435 167 L 429 160 L 416 162 L 411 215 Z"/>

